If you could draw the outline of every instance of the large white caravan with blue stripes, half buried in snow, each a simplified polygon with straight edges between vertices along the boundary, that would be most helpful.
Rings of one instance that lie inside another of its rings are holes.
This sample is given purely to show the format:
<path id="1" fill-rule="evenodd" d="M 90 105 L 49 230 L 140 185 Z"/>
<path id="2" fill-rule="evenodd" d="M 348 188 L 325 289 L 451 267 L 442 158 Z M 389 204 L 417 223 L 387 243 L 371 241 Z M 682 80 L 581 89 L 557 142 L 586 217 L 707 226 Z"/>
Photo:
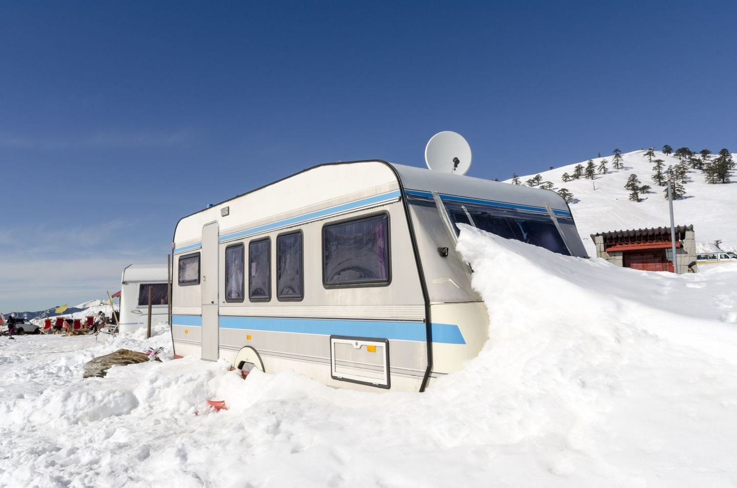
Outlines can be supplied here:
<path id="1" fill-rule="evenodd" d="M 423 391 L 488 337 L 458 223 L 586 257 L 555 192 L 385 161 L 322 164 L 179 220 L 175 354 Z"/>

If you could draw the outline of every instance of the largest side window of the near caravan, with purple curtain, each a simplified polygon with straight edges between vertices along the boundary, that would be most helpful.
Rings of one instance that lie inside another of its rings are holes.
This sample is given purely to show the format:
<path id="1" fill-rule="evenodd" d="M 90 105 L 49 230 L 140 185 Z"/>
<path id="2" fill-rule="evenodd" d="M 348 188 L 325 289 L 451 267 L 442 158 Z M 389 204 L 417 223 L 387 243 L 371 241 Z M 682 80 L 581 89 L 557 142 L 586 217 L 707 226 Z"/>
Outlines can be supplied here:
<path id="1" fill-rule="evenodd" d="M 323 227 L 323 283 L 388 285 L 388 215 Z"/>

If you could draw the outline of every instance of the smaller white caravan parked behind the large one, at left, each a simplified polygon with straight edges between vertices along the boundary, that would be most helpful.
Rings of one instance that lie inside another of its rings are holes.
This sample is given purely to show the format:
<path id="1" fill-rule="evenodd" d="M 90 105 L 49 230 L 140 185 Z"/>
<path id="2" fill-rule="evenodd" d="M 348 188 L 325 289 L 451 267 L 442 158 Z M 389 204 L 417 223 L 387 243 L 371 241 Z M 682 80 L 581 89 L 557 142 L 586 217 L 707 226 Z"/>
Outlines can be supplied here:
<path id="1" fill-rule="evenodd" d="M 167 265 L 129 265 L 120 287 L 120 332 L 135 332 L 148 324 L 151 287 L 151 325 L 169 320 Z"/>

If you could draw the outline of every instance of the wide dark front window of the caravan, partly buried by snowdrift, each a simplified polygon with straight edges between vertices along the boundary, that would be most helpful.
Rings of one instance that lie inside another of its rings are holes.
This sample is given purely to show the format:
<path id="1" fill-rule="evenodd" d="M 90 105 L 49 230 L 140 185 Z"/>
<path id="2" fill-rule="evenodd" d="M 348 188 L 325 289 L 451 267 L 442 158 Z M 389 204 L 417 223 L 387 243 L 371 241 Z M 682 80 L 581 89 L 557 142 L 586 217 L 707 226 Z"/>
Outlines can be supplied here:
<path id="1" fill-rule="evenodd" d="M 445 199 L 443 203 L 457 234 L 460 230 L 455 224 L 466 223 L 506 239 L 539 245 L 549 251 L 570 256 L 563 238 L 548 214 Z"/>

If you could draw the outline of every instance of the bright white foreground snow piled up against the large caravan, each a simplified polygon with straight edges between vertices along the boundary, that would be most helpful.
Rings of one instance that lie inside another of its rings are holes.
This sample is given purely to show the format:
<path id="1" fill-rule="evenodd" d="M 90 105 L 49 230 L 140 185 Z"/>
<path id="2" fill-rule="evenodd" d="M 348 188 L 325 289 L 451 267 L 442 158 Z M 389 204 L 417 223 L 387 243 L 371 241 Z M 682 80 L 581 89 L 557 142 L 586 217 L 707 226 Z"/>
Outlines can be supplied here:
<path id="1" fill-rule="evenodd" d="M 737 269 L 674 276 L 464 227 L 489 342 L 424 394 L 335 390 L 154 338 L 0 340 L 0 485 L 637 487 L 737 483 Z M 215 413 L 205 400 L 226 400 Z M 195 415 L 198 414 L 198 415 Z"/>

